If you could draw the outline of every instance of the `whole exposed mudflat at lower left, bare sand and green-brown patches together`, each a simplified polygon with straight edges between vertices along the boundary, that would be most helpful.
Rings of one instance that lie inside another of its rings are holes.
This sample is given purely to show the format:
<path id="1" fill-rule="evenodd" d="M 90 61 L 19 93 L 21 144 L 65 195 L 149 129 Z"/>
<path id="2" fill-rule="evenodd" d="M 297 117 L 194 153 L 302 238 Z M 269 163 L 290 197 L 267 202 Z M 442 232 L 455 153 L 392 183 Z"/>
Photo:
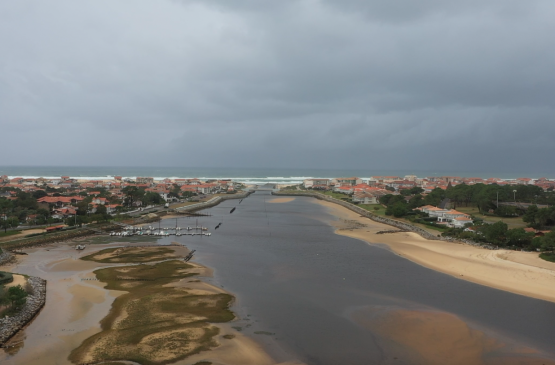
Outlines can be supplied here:
<path id="1" fill-rule="evenodd" d="M 276 363 L 225 324 L 234 297 L 202 281 L 211 269 L 180 260 L 187 248 L 74 244 L 30 249 L 2 268 L 48 280 L 45 308 L 0 352 L 2 364 Z"/>

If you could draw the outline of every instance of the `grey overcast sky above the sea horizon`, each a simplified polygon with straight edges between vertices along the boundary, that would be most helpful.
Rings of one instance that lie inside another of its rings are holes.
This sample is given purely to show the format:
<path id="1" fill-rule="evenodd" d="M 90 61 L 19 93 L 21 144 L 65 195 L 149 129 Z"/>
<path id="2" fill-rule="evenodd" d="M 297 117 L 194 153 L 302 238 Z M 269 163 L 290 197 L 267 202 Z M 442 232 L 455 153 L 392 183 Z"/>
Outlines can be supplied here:
<path id="1" fill-rule="evenodd" d="M 553 170 L 554 15 L 553 0 L 2 0 L 0 164 Z"/>

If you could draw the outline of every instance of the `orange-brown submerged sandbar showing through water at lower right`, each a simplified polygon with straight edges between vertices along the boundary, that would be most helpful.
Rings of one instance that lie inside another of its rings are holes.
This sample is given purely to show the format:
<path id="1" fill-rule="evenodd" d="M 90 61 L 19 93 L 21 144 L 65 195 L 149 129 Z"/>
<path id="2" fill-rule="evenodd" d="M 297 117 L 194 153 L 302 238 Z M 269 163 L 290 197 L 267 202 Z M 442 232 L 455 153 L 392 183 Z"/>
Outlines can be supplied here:
<path id="1" fill-rule="evenodd" d="M 426 310 L 363 307 L 350 319 L 371 330 L 385 350 L 384 364 L 553 365 L 538 351 L 468 326 L 456 315 Z"/>

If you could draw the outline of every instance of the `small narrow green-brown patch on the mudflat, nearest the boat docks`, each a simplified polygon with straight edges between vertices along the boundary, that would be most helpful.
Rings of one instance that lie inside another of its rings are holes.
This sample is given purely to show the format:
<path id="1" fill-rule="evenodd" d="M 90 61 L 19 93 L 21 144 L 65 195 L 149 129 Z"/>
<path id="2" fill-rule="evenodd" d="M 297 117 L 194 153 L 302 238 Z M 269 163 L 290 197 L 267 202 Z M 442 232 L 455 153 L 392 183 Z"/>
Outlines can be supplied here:
<path id="1" fill-rule="evenodd" d="M 81 260 L 108 264 L 140 263 L 178 258 L 174 253 L 168 247 L 116 247 L 95 252 Z"/>

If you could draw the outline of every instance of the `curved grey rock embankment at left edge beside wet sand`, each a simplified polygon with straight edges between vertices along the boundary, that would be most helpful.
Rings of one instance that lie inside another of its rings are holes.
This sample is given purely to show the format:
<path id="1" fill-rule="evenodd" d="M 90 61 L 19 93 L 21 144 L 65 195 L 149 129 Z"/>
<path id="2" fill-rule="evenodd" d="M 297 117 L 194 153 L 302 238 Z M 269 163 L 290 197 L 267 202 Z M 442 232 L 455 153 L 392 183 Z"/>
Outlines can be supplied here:
<path id="1" fill-rule="evenodd" d="M 32 288 L 32 294 L 27 296 L 23 309 L 15 316 L 0 319 L 0 347 L 31 322 L 46 302 L 46 280 L 31 276 L 27 282 Z"/>

